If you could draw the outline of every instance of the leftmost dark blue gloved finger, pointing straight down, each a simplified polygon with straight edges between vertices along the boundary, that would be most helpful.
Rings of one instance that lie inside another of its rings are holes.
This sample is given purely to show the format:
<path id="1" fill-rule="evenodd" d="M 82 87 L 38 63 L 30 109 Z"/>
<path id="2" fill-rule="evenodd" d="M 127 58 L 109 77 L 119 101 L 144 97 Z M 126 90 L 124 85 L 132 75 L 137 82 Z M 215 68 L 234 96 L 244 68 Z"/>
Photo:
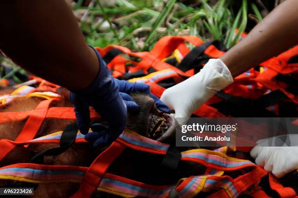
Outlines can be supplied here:
<path id="1" fill-rule="evenodd" d="M 82 134 L 87 134 L 90 128 L 89 106 L 80 98 L 79 95 L 70 92 L 69 99 L 74 104 L 77 126 Z"/>

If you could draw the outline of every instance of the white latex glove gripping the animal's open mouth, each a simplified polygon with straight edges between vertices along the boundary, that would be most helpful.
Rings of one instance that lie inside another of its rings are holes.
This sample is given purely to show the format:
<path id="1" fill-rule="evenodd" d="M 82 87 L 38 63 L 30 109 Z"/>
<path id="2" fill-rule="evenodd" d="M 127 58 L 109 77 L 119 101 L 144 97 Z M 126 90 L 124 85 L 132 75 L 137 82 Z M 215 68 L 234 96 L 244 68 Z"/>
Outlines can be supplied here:
<path id="1" fill-rule="evenodd" d="M 232 82 L 233 77 L 223 61 L 210 59 L 199 73 L 164 91 L 161 100 L 175 110 L 175 117 L 188 118 Z"/>

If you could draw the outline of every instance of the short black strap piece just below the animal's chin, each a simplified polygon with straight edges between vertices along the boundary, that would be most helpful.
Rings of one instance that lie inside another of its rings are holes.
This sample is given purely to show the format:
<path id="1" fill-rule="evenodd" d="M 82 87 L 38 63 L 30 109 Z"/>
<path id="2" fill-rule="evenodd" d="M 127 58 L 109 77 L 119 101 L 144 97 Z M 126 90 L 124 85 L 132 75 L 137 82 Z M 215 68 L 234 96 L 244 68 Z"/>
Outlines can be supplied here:
<path id="1" fill-rule="evenodd" d="M 167 153 L 161 163 L 161 167 L 166 170 L 176 170 L 178 168 L 181 152 L 176 148 L 175 144 L 170 144 Z"/>

